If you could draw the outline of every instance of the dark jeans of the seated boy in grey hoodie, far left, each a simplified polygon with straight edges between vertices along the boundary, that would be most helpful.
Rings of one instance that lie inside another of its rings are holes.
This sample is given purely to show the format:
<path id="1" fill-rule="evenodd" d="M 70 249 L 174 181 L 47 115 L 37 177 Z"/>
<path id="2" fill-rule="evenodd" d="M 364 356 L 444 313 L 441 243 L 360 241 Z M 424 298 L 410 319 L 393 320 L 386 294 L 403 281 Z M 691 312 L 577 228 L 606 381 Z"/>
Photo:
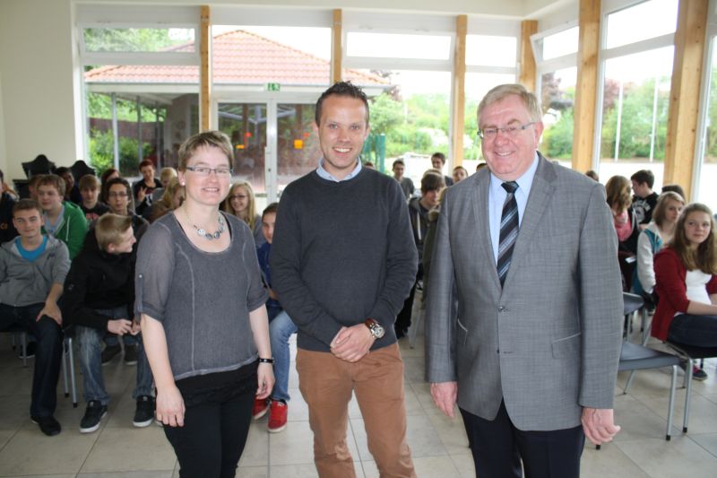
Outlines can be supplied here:
<path id="1" fill-rule="evenodd" d="M 15 325 L 37 338 L 30 402 L 30 416 L 33 417 L 47 417 L 55 413 L 57 378 L 60 376 L 60 360 L 62 360 L 60 326 L 47 316 L 36 320 L 43 307 L 45 307 L 43 303 L 24 307 L 0 304 L 0 331 Z"/>

